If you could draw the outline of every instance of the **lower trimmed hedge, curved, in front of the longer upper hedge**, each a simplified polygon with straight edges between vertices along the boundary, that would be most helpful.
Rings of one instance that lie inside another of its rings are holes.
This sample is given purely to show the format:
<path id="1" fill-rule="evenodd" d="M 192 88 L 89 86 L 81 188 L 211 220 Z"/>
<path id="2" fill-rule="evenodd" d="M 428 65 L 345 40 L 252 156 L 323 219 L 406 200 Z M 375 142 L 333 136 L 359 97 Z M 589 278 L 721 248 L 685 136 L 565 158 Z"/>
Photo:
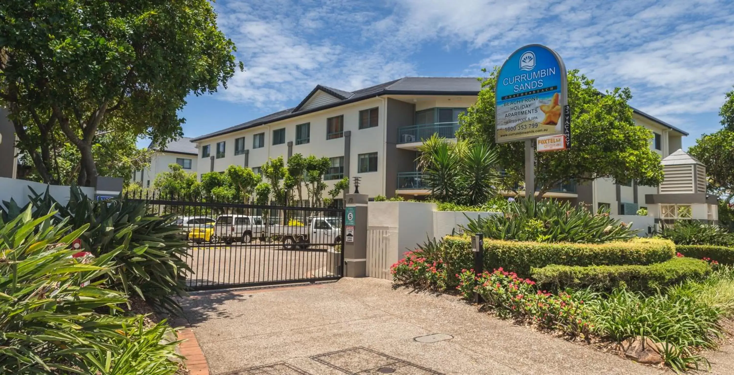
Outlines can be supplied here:
<path id="1" fill-rule="evenodd" d="M 662 263 L 623 266 L 561 266 L 533 268 L 532 278 L 550 289 L 586 288 L 611 291 L 619 286 L 640 292 L 653 292 L 687 278 L 703 278 L 711 266 L 700 259 L 673 258 Z"/>

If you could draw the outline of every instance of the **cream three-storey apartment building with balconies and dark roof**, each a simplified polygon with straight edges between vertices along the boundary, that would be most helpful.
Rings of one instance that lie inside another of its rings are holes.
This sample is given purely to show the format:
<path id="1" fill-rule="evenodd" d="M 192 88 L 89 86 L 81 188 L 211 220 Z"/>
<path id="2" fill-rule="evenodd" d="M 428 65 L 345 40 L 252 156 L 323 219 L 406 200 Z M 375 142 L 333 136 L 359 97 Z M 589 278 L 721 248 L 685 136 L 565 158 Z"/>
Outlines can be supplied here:
<path id="1" fill-rule="evenodd" d="M 476 78 L 405 77 L 355 92 L 319 85 L 294 108 L 193 138 L 199 159 L 195 171 L 224 171 L 230 164 L 258 171 L 271 157 L 300 153 L 331 158 L 329 185 L 358 176 L 360 193 L 371 197 L 426 196 L 415 165 L 421 139 L 433 133 L 455 138 L 459 113 L 476 102 L 480 89 Z M 680 149 L 688 135 L 642 111 L 635 110 L 633 118 L 653 131 L 650 147 L 661 157 Z M 644 207 L 645 194 L 657 192 L 635 182 L 597 179 L 559 185 L 547 196 L 607 205 L 621 215 Z"/>

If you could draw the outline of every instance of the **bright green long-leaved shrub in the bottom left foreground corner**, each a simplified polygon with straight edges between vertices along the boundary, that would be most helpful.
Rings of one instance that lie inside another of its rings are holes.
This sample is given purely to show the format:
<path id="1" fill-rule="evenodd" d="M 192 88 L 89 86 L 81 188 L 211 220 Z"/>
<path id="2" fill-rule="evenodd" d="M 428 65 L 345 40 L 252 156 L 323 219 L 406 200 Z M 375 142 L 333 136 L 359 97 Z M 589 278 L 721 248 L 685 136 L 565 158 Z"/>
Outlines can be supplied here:
<path id="1" fill-rule="evenodd" d="M 170 328 L 148 330 L 142 316 L 103 314 L 127 302 L 101 287 L 124 248 L 74 258 L 69 243 L 88 224 L 72 231 L 69 218 L 54 225 L 52 216 L 33 219 L 26 209 L 0 220 L 0 374 L 112 374 L 130 360 L 142 371 L 135 374 L 174 374 L 178 366 L 161 360 L 175 357 L 174 347 L 157 335 Z"/>

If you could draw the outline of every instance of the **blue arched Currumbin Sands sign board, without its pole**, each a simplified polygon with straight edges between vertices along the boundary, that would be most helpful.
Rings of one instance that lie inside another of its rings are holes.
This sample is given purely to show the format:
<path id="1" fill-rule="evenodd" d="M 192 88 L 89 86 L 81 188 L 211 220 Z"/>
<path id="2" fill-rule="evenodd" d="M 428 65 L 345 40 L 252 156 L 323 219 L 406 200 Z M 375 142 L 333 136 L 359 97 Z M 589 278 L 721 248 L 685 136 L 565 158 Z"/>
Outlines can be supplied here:
<path id="1" fill-rule="evenodd" d="M 512 53 L 497 77 L 495 141 L 564 134 L 567 74 L 561 56 L 543 45 Z"/>

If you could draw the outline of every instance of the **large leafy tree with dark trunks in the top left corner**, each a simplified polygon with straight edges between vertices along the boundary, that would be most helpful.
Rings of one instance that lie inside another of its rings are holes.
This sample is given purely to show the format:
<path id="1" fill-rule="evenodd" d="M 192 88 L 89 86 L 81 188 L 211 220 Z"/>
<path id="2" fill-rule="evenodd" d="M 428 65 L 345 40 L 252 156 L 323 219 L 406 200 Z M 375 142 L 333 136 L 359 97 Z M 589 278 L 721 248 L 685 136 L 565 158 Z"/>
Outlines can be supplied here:
<path id="1" fill-rule="evenodd" d="M 40 178 L 54 182 L 59 130 L 79 151 L 79 185 L 99 173 L 101 131 L 180 136 L 185 97 L 216 92 L 236 67 L 216 19 L 208 0 L 1 1 L 0 105 Z"/>

